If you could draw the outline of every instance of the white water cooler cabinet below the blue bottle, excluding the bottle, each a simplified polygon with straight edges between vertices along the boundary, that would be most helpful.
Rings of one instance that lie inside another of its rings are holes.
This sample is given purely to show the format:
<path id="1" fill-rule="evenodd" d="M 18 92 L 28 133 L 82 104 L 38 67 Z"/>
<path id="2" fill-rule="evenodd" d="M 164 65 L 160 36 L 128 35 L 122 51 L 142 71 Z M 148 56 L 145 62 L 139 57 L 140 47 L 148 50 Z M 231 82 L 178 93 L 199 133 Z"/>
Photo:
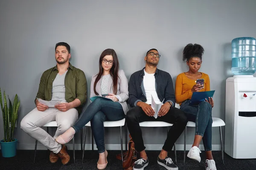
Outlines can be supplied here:
<path id="1" fill-rule="evenodd" d="M 256 77 L 226 80 L 225 152 L 236 159 L 256 158 Z"/>

